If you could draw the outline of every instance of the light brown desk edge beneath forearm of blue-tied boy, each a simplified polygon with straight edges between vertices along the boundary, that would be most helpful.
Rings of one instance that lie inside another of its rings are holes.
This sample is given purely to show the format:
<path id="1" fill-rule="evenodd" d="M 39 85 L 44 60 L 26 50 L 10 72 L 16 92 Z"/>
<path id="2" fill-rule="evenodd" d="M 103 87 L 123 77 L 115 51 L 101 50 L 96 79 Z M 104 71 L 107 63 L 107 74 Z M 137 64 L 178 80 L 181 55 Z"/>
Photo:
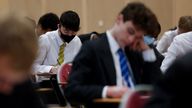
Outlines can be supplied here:
<path id="1" fill-rule="evenodd" d="M 102 98 L 102 99 L 95 99 L 95 103 L 120 103 L 121 98 Z"/>

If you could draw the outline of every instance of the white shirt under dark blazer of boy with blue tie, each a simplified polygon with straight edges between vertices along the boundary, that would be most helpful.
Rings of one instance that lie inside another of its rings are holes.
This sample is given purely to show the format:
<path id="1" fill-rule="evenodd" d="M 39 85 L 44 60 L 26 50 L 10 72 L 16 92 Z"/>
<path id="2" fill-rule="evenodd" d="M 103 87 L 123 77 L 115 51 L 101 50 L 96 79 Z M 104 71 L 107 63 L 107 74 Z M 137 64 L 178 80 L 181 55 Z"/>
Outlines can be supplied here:
<path id="1" fill-rule="evenodd" d="M 109 47 L 110 47 L 110 50 L 111 50 L 111 54 L 112 54 L 112 57 L 113 57 L 114 66 L 115 66 L 115 70 L 116 70 L 116 84 L 117 84 L 118 87 L 126 86 L 126 81 L 123 79 L 123 77 L 121 75 L 119 54 L 117 53 L 120 46 L 117 43 L 117 41 L 114 39 L 114 37 L 111 35 L 110 31 L 107 31 L 106 34 L 107 34 L 107 39 L 108 39 L 108 42 L 109 42 Z M 143 58 L 144 58 L 145 61 L 152 62 L 152 61 L 156 60 L 156 56 L 155 56 L 155 53 L 154 53 L 153 49 L 148 49 L 146 51 L 143 51 L 142 53 L 143 53 Z M 129 62 L 128 62 L 128 66 L 129 66 L 129 71 L 130 71 L 131 75 L 133 75 L 133 72 L 132 72 L 132 69 L 131 69 L 131 66 L 130 66 Z M 106 98 L 106 95 L 107 95 L 107 86 L 105 86 L 104 89 L 103 89 L 102 97 Z"/>

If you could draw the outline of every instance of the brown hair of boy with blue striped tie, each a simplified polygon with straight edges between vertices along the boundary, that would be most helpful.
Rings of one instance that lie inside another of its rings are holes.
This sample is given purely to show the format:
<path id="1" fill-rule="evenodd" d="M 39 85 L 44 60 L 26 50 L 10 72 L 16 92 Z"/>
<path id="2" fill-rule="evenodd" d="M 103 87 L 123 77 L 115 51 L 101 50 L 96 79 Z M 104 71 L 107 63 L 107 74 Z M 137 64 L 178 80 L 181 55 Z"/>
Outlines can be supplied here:
<path id="1" fill-rule="evenodd" d="M 129 3 L 120 14 L 123 15 L 124 22 L 132 21 L 138 29 L 144 30 L 147 34 L 154 34 L 159 27 L 155 14 L 143 3 Z"/>

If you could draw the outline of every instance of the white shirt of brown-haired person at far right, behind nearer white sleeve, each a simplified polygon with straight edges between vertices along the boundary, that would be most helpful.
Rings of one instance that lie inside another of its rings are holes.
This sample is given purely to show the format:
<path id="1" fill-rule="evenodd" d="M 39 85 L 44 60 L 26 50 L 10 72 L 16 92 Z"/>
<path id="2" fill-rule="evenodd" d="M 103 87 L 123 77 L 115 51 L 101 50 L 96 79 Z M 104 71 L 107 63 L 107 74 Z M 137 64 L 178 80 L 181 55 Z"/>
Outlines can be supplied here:
<path id="1" fill-rule="evenodd" d="M 176 35 L 178 35 L 177 29 L 165 32 L 157 44 L 157 47 L 156 47 L 157 50 L 165 56 L 167 53 L 167 49 L 169 48 L 170 44 L 173 42 L 173 38 Z"/>

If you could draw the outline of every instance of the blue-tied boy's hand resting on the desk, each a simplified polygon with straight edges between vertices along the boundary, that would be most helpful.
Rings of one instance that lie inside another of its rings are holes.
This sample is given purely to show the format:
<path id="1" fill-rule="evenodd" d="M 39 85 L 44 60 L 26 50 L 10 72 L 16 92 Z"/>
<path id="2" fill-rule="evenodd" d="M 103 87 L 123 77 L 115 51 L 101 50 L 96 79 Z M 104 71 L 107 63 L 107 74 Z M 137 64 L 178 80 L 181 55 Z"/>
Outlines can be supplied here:
<path id="1" fill-rule="evenodd" d="M 127 91 L 129 91 L 128 87 L 108 86 L 107 97 L 121 98 Z"/>

